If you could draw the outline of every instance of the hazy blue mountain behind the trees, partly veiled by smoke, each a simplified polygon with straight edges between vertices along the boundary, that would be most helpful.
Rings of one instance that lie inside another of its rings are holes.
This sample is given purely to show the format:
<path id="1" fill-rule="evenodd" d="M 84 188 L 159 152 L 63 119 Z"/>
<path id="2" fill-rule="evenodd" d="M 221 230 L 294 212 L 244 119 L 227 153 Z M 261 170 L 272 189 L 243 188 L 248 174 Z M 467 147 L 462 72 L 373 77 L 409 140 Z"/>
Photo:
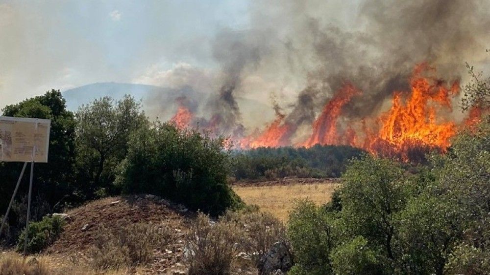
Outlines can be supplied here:
<path id="1" fill-rule="evenodd" d="M 176 99 L 186 96 L 191 106 L 205 104 L 207 94 L 196 92 L 192 87 L 172 89 L 153 85 L 128 84 L 128 83 L 94 83 L 69 89 L 63 92 L 67 101 L 67 107 L 76 111 L 79 106 L 88 104 L 94 99 L 110 96 L 120 99 L 125 94 L 143 100 L 143 107 L 150 116 L 158 116 L 162 120 L 172 117 L 177 109 Z M 244 122 L 252 127 L 261 127 L 274 119 L 274 111 L 271 106 L 259 101 L 237 98 L 241 108 Z"/>

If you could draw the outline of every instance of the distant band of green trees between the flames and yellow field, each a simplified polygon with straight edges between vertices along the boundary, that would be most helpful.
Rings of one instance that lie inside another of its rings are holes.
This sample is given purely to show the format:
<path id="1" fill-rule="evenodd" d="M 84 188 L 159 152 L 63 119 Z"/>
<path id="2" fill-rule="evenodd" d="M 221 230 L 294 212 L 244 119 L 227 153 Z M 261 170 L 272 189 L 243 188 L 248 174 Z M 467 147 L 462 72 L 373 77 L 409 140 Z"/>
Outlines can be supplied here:
<path id="1" fill-rule="evenodd" d="M 361 149 L 349 146 L 256 148 L 236 152 L 232 169 L 238 180 L 287 176 L 339 177 L 348 160 L 361 154 Z"/>

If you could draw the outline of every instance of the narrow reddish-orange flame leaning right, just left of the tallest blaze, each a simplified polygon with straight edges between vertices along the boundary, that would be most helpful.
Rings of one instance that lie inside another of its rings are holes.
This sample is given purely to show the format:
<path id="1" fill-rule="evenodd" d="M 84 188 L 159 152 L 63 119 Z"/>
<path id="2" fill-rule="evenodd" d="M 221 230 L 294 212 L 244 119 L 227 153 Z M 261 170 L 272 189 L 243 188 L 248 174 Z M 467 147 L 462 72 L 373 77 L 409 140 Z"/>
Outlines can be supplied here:
<path id="1" fill-rule="evenodd" d="M 342 113 L 342 107 L 347 104 L 351 98 L 360 93 L 354 85 L 345 84 L 334 97 L 323 107 L 319 118 L 313 123 L 313 134 L 303 144 L 305 147 L 312 147 L 315 144 L 337 145 L 339 136 L 337 134 L 337 120 Z M 348 130 L 348 143 L 355 141 L 355 132 L 353 129 Z"/>

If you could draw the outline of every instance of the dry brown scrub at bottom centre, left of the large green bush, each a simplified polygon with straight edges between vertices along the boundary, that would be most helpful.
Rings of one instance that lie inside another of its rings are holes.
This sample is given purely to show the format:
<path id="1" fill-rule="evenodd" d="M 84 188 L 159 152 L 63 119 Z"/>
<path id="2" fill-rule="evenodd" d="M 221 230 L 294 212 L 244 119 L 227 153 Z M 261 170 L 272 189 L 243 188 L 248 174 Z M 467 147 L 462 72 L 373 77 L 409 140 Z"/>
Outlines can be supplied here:
<path id="1" fill-rule="evenodd" d="M 288 243 L 286 228 L 270 213 L 246 209 L 228 211 L 217 221 L 199 213 L 187 235 L 189 274 L 230 274 L 239 253 L 259 268 L 274 243 Z"/>

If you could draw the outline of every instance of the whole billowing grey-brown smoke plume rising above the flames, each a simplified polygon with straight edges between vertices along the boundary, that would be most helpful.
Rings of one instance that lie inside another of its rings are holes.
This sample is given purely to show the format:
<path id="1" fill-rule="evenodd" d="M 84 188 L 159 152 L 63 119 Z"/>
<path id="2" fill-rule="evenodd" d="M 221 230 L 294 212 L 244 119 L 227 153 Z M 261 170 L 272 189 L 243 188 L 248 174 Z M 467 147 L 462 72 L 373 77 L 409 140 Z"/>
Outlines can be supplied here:
<path id="1" fill-rule="evenodd" d="M 284 123 L 296 131 L 311 126 L 347 82 L 362 93 L 344 116 L 377 115 L 393 91 L 408 90 L 417 63 L 452 81 L 465 77 L 465 61 L 488 58 L 489 10 L 487 0 L 253 2 L 250 29 L 223 30 L 213 39 L 219 69 L 206 121 L 243 135 L 237 96 L 267 102 L 277 93 L 275 106 L 283 107 Z"/>

